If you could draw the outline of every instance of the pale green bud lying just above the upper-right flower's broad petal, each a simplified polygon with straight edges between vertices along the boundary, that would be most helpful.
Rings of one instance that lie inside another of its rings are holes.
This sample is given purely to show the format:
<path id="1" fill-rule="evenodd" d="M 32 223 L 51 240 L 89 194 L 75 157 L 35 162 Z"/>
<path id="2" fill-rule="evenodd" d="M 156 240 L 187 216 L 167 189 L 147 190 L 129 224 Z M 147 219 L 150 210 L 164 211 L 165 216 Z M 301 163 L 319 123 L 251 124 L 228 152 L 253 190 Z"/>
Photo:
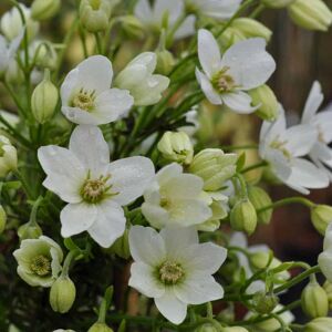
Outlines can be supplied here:
<path id="1" fill-rule="evenodd" d="M 246 38 L 260 37 L 268 42 L 272 35 L 272 31 L 264 24 L 249 18 L 236 19 L 231 27 L 239 30 Z"/>

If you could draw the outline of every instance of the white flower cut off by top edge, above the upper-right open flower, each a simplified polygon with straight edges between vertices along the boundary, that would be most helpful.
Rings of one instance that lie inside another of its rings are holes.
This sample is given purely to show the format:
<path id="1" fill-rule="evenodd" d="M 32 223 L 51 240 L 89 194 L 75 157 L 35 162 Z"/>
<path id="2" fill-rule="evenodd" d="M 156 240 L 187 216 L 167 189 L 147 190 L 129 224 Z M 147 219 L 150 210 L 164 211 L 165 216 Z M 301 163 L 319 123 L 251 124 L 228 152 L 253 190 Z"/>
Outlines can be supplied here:
<path id="1" fill-rule="evenodd" d="M 204 15 L 228 20 L 240 7 L 242 0 L 185 0 L 189 10 L 201 13 Z"/>

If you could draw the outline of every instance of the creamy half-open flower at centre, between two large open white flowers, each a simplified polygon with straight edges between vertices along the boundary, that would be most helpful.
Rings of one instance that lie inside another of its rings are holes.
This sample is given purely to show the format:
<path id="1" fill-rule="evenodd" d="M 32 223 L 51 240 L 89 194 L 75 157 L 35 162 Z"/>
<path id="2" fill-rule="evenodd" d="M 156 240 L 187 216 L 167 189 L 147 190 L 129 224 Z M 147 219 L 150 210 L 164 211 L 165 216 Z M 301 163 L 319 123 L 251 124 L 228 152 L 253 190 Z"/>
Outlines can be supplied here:
<path id="1" fill-rule="evenodd" d="M 201 224 L 212 215 L 209 208 L 211 200 L 203 191 L 203 186 L 200 177 L 184 174 L 180 165 L 167 165 L 145 190 L 142 212 L 156 228 Z"/>

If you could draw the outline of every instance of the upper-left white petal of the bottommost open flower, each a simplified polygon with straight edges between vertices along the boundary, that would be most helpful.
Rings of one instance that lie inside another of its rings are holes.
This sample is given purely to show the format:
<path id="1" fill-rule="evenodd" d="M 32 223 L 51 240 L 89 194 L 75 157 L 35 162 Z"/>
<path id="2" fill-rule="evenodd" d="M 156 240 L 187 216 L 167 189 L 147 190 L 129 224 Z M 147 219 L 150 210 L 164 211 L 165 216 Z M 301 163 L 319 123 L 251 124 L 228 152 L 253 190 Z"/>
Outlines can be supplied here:
<path id="1" fill-rule="evenodd" d="M 162 236 L 151 227 L 133 226 L 129 230 L 129 248 L 135 261 L 157 267 L 166 258 Z"/>

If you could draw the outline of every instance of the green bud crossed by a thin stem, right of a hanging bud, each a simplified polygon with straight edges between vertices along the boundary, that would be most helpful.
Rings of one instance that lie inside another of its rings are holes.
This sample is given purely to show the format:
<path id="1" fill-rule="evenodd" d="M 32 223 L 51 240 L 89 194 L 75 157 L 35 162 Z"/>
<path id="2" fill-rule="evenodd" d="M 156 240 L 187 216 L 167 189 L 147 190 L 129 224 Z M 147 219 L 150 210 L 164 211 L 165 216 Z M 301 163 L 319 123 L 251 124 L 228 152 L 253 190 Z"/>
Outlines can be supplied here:
<path id="1" fill-rule="evenodd" d="M 249 186 L 248 187 L 248 198 L 252 203 L 256 210 L 259 210 L 263 207 L 270 206 L 272 204 L 272 200 L 269 196 L 269 194 L 257 186 Z M 264 210 L 257 215 L 258 222 L 268 225 L 271 221 L 272 217 L 272 209 Z"/>

